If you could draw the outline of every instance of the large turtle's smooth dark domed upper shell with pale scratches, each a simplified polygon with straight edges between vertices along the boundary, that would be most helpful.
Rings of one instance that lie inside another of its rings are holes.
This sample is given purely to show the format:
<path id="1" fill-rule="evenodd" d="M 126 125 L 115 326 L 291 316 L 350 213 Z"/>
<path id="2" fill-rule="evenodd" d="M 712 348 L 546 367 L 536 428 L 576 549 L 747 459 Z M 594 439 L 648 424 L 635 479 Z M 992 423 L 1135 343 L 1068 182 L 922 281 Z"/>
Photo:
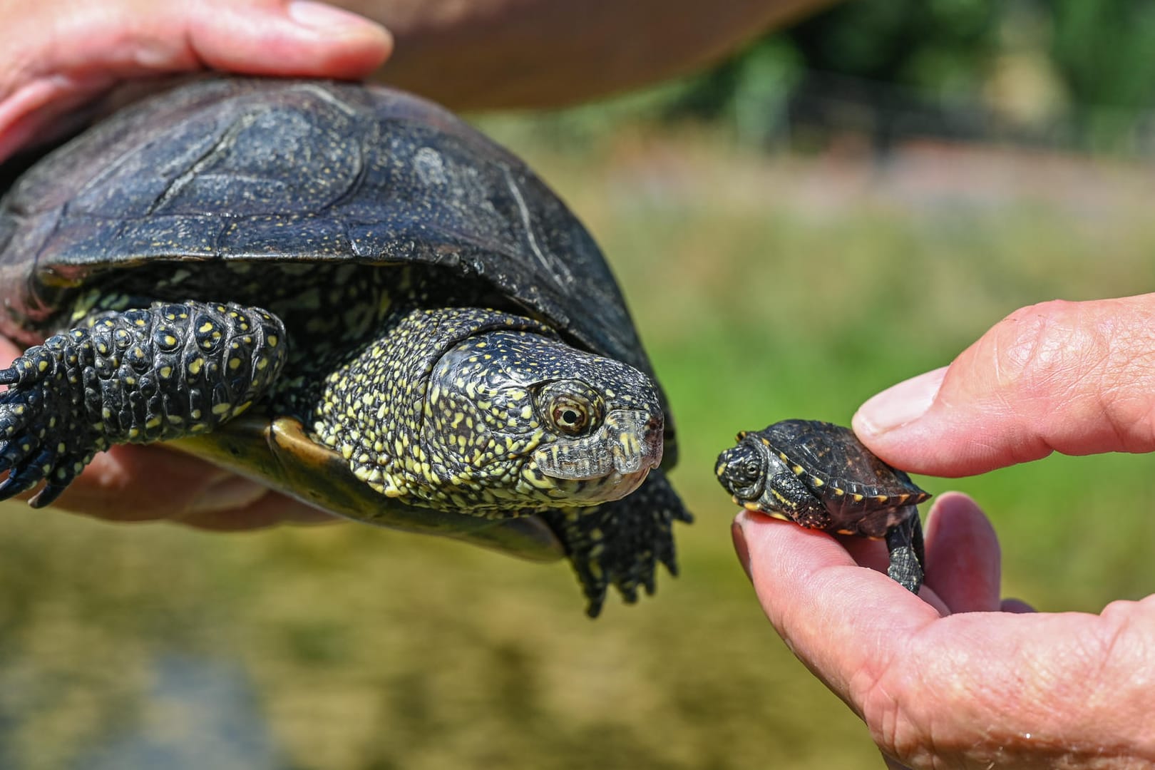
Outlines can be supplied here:
<path id="1" fill-rule="evenodd" d="M 40 342 L 95 275 L 149 260 L 441 266 L 656 380 L 561 200 L 461 119 L 385 87 L 196 81 L 58 149 L 0 202 L 0 334 Z"/>

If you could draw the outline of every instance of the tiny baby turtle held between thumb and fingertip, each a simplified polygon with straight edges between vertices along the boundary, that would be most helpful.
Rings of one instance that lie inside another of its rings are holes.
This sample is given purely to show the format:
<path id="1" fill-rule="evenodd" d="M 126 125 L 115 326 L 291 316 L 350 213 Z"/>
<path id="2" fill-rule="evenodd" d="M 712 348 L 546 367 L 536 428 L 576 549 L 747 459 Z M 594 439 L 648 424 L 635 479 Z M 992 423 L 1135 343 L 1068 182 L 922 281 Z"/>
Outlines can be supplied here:
<path id="1" fill-rule="evenodd" d="M 718 455 L 718 481 L 748 510 L 840 534 L 885 538 L 887 574 L 918 593 L 923 529 L 918 503 L 930 499 L 903 471 L 884 463 L 854 432 L 817 420 L 782 420 L 738 434 Z"/>

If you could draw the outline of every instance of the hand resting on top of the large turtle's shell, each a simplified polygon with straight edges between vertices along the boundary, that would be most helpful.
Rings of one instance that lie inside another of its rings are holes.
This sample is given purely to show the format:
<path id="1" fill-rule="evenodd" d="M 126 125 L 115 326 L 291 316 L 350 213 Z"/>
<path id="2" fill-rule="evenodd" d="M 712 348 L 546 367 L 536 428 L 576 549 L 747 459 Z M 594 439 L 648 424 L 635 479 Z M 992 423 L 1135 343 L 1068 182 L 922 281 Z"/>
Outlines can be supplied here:
<path id="1" fill-rule="evenodd" d="M 129 81 L 206 69 L 356 79 L 389 55 L 380 25 L 306 0 L 0 0 L 0 160 L 73 127 Z"/>

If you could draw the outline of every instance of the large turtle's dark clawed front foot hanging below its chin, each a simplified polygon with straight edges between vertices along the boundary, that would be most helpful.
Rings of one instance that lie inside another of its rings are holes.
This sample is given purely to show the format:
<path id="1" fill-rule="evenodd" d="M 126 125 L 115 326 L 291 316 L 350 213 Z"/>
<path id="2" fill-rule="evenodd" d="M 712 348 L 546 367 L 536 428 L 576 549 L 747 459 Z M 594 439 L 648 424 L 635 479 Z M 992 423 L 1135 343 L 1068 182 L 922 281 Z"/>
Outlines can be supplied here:
<path id="1" fill-rule="evenodd" d="M 542 511 L 561 540 L 596 618 L 613 585 L 633 604 L 639 586 L 654 593 L 657 562 L 678 574 L 673 552 L 673 522 L 691 522 L 662 469 L 654 469 L 633 494 L 590 508 Z"/>

